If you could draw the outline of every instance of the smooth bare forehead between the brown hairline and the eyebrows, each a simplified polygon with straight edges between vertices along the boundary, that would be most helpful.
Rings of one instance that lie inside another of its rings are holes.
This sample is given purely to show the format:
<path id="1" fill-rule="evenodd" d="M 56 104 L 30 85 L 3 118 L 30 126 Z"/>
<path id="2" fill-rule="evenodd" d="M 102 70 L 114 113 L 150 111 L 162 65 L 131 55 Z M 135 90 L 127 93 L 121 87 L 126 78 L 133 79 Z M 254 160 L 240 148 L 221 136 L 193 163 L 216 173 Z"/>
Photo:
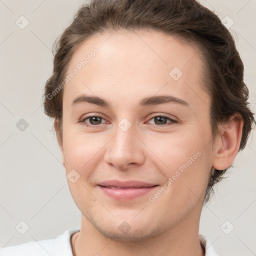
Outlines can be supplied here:
<path id="1" fill-rule="evenodd" d="M 98 34 L 74 52 L 67 74 L 74 69 L 77 74 L 65 86 L 64 96 L 70 100 L 81 93 L 125 97 L 133 92 L 149 96 L 159 91 L 195 103 L 197 97 L 204 97 L 205 103 L 202 67 L 196 47 L 159 31 Z"/>

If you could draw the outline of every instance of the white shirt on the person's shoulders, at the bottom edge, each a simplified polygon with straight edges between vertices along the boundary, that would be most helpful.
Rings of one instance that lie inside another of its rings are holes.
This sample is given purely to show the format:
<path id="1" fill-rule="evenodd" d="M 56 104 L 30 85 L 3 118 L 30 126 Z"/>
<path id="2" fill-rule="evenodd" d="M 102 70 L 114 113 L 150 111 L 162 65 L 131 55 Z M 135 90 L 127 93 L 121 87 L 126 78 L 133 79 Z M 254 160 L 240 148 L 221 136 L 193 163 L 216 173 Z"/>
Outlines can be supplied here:
<path id="1" fill-rule="evenodd" d="M 31 241 L 0 248 L 0 256 L 73 256 L 70 237 L 80 231 L 79 228 L 65 230 L 55 239 Z M 202 234 L 200 240 L 205 243 L 205 256 L 218 256 L 211 242 Z M 99 253 L 100 255 L 100 253 Z"/>

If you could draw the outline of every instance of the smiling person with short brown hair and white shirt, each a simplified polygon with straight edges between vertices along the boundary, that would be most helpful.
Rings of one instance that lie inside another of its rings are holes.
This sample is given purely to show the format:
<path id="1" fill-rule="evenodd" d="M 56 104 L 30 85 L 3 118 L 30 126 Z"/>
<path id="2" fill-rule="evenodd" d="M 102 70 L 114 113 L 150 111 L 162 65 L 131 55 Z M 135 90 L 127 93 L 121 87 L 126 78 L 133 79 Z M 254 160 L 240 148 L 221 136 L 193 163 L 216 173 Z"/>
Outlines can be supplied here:
<path id="1" fill-rule="evenodd" d="M 243 64 L 195 0 L 92 0 L 44 94 L 81 227 L 1 255 L 217 255 L 198 234 L 253 115 Z"/>

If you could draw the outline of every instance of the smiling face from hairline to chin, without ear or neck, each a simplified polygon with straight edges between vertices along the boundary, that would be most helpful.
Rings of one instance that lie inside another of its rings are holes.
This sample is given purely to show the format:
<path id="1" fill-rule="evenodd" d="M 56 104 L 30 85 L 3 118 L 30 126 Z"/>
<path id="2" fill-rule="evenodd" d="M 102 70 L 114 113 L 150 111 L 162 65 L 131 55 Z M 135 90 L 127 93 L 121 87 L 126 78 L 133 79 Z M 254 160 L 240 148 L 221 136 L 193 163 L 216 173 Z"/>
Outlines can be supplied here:
<path id="1" fill-rule="evenodd" d="M 86 219 L 109 238 L 137 240 L 199 218 L 213 160 L 210 97 L 196 48 L 156 31 L 110 35 L 72 56 L 60 148 Z"/>

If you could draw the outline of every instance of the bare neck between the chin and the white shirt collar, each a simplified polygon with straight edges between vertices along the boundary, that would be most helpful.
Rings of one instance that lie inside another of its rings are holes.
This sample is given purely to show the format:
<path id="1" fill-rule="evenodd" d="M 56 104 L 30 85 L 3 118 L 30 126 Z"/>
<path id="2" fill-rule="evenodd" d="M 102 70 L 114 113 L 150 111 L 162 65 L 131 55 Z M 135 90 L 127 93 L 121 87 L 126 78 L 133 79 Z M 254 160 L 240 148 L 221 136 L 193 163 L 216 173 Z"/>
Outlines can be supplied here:
<path id="1" fill-rule="evenodd" d="M 131 242 L 116 241 L 106 237 L 95 229 L 82 214 L 79 235 L 76 236 L 75 234 L 72 237 L 72 241 L 77 238 L 75 241 L 74 255 L 144 256 L 145 254 L 151 254 L 158 256 L 204 256 L 204 250 L 201 247 L 198 236 L 199 217 L 195 218 L 195 216 L 196 214 L 190 214 L 177 225 L 160 234 Z M 191 219 L 193 222 L 191 222 Z"/>

